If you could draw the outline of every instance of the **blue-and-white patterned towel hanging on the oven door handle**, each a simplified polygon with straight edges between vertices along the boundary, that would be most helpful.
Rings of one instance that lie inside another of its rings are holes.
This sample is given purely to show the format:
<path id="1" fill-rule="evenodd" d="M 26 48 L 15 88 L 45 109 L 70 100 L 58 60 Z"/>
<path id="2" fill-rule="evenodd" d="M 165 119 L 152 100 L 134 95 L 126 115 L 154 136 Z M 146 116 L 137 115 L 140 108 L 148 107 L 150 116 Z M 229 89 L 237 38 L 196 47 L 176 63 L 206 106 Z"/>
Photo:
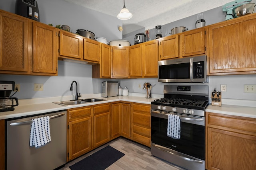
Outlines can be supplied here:
<path id="1" fill-rule="evenodd" d="M 180 139 L 180 116 L 168 114 L 167 136 Z"/>

